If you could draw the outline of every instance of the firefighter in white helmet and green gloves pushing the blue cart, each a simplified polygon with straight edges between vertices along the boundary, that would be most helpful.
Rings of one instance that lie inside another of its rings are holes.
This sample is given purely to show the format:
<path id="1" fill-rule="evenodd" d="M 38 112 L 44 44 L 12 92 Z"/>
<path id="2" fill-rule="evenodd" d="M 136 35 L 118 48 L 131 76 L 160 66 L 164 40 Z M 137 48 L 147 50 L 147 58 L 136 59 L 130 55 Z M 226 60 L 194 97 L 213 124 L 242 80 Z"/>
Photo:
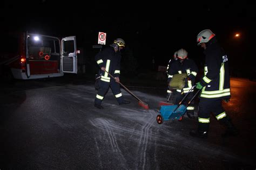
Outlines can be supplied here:
<path id="1" fill-rule="evenodd" d="M 222 100 L 228 102 L 231 97 L 227 55 L 219 46 L 211 30 L 201 31 L 197 36 L 197 42 L 204 48 L 205 67 L 204 77 L 197 83 L 197 88 L 202 90 L 199 101 L 198 129 L 192 130 L 190 134 L 194 137 L 207 138 L 210 114 L 213 112 L 217 120 L 227 127 L 223 137 L 236 135 L 238 131 L 221 105 Z"/>

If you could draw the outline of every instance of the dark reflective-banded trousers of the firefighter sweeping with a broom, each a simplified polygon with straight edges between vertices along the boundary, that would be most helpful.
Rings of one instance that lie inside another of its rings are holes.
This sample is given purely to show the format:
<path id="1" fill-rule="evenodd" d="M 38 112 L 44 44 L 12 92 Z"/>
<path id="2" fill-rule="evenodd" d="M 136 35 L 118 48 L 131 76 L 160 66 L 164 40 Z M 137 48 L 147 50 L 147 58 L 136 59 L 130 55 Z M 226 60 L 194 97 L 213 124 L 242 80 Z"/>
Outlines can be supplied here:
<path id="1" fill-rule="evenodd" d="M 113 79 L 111 79 L 110 82 L 105 82 L 105 81 L 100 80 L 99 90 L 95 97 L 95 104 L 98 104 L 98 105 L 102 104 L 102 101 L 103 101 L 107 91 L 109 91 L 109 88 L 111 88 L 111 90 L 119 104 L 124 101 L 124 98 L 123 98 L 121 90 L 120 90 L 120 84 L 118 84 Z"/>

